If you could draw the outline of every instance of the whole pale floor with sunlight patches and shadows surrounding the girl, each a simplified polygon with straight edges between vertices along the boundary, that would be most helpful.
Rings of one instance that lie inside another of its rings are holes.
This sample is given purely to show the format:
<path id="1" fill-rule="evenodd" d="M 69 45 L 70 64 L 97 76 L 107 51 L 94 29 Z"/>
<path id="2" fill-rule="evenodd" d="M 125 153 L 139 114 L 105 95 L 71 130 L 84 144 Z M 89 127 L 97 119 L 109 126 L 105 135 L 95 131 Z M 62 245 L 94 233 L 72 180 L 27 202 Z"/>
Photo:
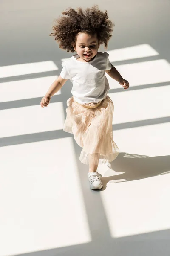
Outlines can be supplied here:
<path id="1" fill-rule="evenodd" d="M 83 5 L 92 6 L 87 0 Z M 120 148 L 89 189 L 81 148 L 62 130 L 71 82 L 40 100 L 71 53 L 50 38 L 78 1 L 0 3 L 0 256 L 170 255 L 170 1 L 100 1 L 115 23 L 107 51 Z"/>

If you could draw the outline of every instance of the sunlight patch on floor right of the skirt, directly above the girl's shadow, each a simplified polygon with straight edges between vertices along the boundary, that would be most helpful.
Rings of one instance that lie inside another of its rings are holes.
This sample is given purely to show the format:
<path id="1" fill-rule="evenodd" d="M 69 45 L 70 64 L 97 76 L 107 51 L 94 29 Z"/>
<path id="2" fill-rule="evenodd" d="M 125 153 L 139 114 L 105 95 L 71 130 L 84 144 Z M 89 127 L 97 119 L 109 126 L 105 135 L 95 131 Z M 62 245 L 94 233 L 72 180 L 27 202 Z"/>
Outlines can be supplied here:
<path id="1" fill-rule="evenodd" d="M 170 155 L 170 122 L 114 131 L 120 151 L 147 156 Z"/>

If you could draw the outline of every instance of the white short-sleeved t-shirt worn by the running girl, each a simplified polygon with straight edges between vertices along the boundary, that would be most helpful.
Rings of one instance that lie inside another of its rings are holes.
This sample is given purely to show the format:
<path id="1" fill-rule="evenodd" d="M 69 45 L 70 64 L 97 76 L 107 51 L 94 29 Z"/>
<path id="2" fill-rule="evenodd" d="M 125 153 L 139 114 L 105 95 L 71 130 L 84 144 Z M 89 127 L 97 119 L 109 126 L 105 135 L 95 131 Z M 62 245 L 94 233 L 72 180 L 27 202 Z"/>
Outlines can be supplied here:
<path id="1" fill-rule="evenodd" d="M 60 76 L 70 79 L 73 83 L 71 93 L 80 103 L 98 103 L 106 98 L 110 89 L 105 70 L 111 69 L 107 52 L 97 52 L 95 58 L 89 62 L 78 61 L 78 54 L 62 62 Z"/>

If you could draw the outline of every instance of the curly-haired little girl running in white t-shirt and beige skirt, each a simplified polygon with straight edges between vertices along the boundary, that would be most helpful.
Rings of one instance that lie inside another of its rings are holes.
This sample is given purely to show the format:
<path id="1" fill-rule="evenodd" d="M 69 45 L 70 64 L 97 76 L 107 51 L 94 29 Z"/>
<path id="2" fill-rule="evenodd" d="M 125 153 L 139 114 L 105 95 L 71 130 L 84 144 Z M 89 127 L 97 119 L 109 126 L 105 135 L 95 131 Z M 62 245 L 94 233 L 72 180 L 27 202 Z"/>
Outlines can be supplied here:
<path id="1" fill-rule="evenodd" d="M 110 89 L 105 72 L 127 89 L 129 83 L 123 79 L 110 63 L 107 52 L 98 52 L 108 41 L 113 31 L 113 23 L 107 11 L 98 6 L 69 8 L 62 12 L 53 26 L 55 40 L 61 49 L 77 52 L 62 62 L 59 77 L 51 84 L 41 100 L 41 107 L 47 107 L 53 96 L 70 79 L 73 87 L 72 97 L 67 100 L 67 117 L 63 130 L 74 134 L 77 144 L 82 147 L 79 160 L 89 164 L 88 179 L 91 189 L 101 189 L 103 184 L 96 171 L 98 164 L 113 161 L 119 148 L 113 141 L 112 120 L 113 102 L 107 95 Z"/>

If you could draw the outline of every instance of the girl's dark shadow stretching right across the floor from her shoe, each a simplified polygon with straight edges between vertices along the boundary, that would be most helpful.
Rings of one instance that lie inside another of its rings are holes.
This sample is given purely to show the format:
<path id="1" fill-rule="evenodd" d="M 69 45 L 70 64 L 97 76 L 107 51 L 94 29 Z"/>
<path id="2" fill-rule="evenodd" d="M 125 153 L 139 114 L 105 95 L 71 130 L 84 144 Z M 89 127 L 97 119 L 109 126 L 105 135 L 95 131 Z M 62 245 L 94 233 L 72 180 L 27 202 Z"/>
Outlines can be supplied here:
<path id="1" fill-rule="evenodd" d="M 148 157 L 137 154 L 119 153 L 108 163 L 108 169 L 102 177 L 104 190 L 108 182 L 125 182 L 170 173 L 170 156 Z M 116 174 L 116 172 L 123 172 Z"/>

